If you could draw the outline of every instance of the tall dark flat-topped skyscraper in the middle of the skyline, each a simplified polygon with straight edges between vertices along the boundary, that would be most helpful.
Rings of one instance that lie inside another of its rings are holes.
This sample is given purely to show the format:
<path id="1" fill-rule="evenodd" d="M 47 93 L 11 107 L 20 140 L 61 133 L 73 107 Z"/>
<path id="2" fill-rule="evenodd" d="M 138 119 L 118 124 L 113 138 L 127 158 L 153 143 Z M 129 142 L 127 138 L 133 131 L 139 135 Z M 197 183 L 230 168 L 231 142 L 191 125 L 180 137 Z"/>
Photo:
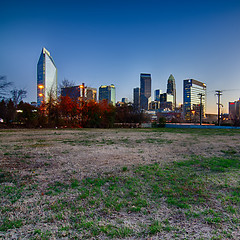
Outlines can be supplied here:
<path id="1" fill-rule="evenodd" d="M 141 73 L 140 75 L 140 109 L 148 110 L 151 102 L 151 74 Z"/>

